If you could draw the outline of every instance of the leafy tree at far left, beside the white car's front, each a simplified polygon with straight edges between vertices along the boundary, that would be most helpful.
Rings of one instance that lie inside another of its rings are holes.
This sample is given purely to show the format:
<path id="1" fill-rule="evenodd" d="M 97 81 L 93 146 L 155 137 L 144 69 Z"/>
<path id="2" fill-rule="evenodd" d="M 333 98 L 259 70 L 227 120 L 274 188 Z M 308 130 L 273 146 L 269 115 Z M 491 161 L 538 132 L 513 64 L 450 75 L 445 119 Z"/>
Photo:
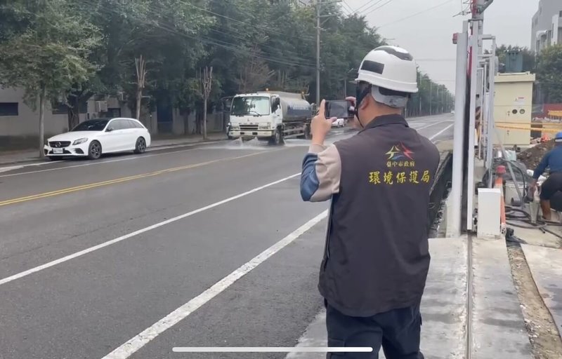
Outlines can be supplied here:
<path id="1" fill-rule="evenodd" d="M 39 102 L 39 154 L 44 156 L 44 114 L 48 100 L 65 97 L 74 83 L 96 71 L 87 57 L 100 42 L 98 29 L 72 11 L 66 0 L 18 1 L 27 26 L 0 42 L 0 83 L 25 89 Z"/>

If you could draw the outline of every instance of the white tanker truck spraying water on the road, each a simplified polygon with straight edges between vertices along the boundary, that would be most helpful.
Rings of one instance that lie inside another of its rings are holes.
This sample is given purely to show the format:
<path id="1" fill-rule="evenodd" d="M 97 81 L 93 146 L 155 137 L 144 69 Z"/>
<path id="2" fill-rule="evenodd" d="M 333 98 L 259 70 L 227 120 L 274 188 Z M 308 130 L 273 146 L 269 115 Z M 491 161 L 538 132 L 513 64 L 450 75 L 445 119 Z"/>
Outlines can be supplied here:
<path id="1" fill-rule="evenodd" d="M 235 95 L 230 107 L 228 138 L 268 140 L 310 138 L 313 107 L 301 93 L 261 91 Z"/>

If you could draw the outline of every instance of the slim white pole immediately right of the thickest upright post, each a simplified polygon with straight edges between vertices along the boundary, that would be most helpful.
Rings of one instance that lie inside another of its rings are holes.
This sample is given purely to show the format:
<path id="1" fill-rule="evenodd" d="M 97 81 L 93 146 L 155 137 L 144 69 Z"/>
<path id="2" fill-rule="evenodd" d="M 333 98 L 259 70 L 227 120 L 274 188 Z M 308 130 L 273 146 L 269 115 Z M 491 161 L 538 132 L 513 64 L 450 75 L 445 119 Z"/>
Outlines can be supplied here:
<path id="1" fill-rule="evenodd" d="M 469 149 L 468 174 L 466 175 L 466 230 L 473 229 L 474 212 L 474 117 L 476 116 L 476 93 L 478 93 L 478 38 L 480 37 L 480 22 L 473 21 L 473 34 L 471 36 L 472 67 L 470 80 L 470 114 L 469 114 Z"/>

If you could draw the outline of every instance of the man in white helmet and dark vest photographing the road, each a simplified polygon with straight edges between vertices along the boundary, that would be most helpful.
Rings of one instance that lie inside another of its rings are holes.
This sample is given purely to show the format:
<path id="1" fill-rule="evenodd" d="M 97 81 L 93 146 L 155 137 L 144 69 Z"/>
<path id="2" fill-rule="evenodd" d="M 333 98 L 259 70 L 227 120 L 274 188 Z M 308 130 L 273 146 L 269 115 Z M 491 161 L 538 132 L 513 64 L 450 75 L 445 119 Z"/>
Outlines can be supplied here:
<path id="1" fill-rule="evenodd" d="M 439 153 L 401 115 L 417 93 L 410 53 L 375 48 L 356 82 L 360 132 L 326 147 L 333 119 L 325 118 L 322 101 L 301 175 L 304 201 L 332 200 L 318 285 L 328 345 L 374 349 L 338 358 L 378 358 L 381 347 L 387 359 L 423 358 L 419 304 L 429 270 L 429 191 Z"/>

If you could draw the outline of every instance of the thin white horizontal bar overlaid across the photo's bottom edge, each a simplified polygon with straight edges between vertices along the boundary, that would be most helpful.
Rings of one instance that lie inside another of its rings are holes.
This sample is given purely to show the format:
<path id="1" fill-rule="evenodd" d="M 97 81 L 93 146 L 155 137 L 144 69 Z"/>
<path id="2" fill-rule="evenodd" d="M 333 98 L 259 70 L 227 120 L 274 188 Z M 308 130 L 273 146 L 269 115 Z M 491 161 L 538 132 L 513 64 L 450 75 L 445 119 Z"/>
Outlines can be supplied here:
<path id="1" fill-rule="evenodd" d="M 174 353 L 372 353 L 370 346 L 176 346 Z"/>

